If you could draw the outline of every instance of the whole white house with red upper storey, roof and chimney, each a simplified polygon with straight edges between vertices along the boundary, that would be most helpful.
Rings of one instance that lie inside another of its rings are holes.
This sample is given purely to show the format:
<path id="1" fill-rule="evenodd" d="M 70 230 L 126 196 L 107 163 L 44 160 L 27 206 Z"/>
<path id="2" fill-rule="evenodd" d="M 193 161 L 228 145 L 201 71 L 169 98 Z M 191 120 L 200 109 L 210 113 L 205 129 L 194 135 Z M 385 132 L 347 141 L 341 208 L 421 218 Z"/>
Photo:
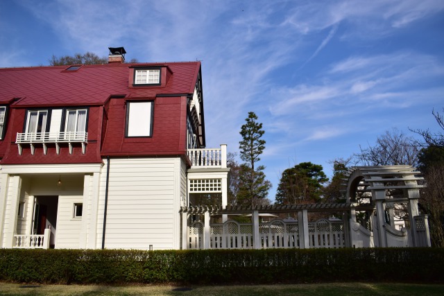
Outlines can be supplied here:
<path id="1" fill-rule="evenodd" d="M 227 200 L 200 62 L 0 69 L 0 246 L 179 249 L 180 207 Z"/>

